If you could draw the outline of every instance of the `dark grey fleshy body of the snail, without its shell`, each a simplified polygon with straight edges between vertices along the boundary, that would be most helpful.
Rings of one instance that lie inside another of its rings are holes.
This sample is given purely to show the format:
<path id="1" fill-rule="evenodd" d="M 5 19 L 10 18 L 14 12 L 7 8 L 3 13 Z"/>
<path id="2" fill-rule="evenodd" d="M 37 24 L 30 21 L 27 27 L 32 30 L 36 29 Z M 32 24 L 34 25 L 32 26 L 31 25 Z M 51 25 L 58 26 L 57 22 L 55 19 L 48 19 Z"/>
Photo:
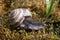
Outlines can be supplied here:
<path id="1" fill-rule="evenodd" d="M 39 22 L 32 18 L 26 18 L 24 22 L 20 25 L 20 27 L 29 28 L 32 30 L 39 30 L 43 28 L 43 26 L 45 26 L 44 22 Z"/>

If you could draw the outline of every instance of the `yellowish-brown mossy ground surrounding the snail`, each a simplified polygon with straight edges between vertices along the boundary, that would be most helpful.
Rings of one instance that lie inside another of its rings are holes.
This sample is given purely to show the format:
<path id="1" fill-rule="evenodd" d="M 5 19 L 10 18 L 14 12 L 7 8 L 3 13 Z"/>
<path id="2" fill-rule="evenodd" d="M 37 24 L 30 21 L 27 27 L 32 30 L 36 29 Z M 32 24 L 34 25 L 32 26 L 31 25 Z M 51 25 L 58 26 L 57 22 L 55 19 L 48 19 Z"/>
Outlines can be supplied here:
<path id="1" fill-rule="evenodd" d="M 2 1 L 1 1 L 2 2 Z M 58 2 L 58 1 L 56 1 Z M 48 27 L 38 31 L 10 29 L 8 15 L 16 8 L 29 8 L 33 18 L 46 21 Z M 60 3 L 45 17 L 45 0 L 6 0 L 0 6 L 0 40 L 60 40 Z"/>

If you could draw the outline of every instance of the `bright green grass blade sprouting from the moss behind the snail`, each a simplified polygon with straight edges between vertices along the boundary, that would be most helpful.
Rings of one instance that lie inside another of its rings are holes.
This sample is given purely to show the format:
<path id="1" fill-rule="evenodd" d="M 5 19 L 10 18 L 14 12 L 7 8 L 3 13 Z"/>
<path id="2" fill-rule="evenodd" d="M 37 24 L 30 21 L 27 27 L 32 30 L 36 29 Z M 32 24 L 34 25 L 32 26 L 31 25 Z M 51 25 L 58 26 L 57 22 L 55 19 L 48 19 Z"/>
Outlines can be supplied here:
<path id="1" fill-rule="evenodd" d="M 54 0 L 46 0 L 46 17 L 48 18 L 50 15 L 50 12 L 52 11 L 52 9 L 54 8 L 55 4 L 54 4 Z"/>

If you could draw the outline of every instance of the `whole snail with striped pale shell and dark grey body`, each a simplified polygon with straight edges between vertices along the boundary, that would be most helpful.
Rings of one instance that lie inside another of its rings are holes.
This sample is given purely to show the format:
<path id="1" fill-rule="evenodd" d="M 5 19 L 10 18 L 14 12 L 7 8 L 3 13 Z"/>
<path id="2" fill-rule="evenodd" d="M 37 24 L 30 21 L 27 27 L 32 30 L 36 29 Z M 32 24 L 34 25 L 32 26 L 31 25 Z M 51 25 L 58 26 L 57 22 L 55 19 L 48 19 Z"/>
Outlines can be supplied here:
<path id="1" fill-rule="evenodd" d="M 9 23 L 14 27 L 39 30 L 45 23 L 32 18 L 30 10 L 26 8 L 14 9 L 9 14 Z"/>

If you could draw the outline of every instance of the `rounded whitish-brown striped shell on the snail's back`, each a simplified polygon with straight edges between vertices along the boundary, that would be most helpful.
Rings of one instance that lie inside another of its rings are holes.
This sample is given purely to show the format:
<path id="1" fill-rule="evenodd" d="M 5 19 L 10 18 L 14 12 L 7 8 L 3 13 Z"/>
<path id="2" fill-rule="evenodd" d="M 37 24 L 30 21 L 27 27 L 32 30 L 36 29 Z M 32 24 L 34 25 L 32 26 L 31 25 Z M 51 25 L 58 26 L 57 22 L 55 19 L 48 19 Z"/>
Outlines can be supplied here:
<path id="1" fill-rule="evenodd" d="M 25 20 L 26 16 L 32 16 L 28 9 L 20 8 L 12 10 L 9 14 L 10 25 L 19 26 Z"/>

